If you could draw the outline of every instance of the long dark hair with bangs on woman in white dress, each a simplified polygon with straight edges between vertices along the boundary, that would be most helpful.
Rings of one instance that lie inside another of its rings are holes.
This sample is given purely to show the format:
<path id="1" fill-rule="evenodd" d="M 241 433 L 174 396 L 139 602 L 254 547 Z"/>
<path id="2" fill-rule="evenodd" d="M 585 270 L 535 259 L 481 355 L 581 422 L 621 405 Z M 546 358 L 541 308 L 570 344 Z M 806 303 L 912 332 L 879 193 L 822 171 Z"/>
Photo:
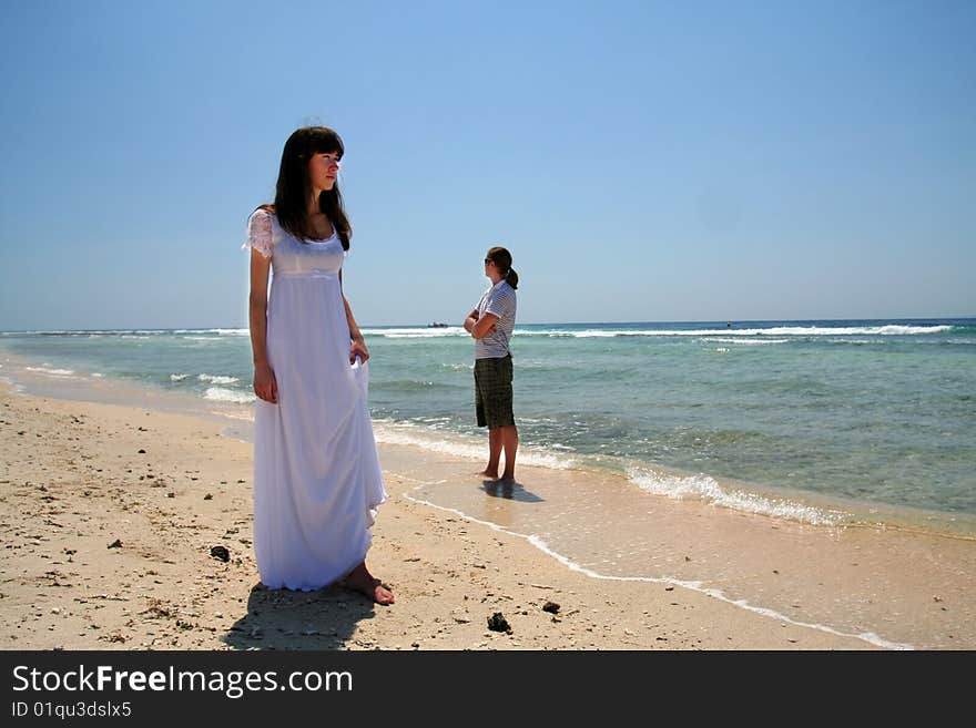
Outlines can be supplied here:
<path id="1" fill-rule="evenodd" d="M 315 154 L 335 154 L 342 158 L 344 152 L 343 140 L 327 126 L 303 126 L 285 142 L 275 191 L 274 212 L 281 226 L 299 240 L 312 237 L 307 219 L 311 189 L 308 160 Z M 332 189 L 322 191 L 318 196 L 318 208 L 335 227 L 343 249 L 348 250 L 353 228 L 343 207 L 338 182 Z"/>

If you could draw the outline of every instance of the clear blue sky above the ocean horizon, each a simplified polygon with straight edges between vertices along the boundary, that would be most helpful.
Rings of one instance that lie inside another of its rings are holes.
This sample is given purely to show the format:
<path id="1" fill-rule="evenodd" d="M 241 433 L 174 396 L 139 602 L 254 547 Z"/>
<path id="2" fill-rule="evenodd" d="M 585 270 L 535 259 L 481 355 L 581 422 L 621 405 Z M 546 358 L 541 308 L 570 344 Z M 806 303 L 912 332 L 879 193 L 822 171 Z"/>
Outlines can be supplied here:
<path id="1" fill-rule="evenodd" d="M 364 326 L 976 314 L 970 1 L 2 10 L 0 329 L 245 326 L 306 123 Z"/>

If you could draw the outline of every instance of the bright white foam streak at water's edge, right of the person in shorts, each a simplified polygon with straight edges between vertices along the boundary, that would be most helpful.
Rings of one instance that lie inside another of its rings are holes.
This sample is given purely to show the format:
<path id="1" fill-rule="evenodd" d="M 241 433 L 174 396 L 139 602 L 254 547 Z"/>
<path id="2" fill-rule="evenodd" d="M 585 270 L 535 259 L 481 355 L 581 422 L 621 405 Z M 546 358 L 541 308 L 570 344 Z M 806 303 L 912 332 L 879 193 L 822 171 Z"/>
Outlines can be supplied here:
<path id="1" fill-rule="evenodd" d="M 627 476 L 634 485 L 654 495 L 675 500 L 699 499 L 715 505 L 789 519 L 814 525 L 836 525 L 844 520 L 840 511 L 826 511 L 791 501 L 779 501 L 745 491 L 726 491 L 710 475 L 669 475 L 638 468 L 629 468 Z"/>

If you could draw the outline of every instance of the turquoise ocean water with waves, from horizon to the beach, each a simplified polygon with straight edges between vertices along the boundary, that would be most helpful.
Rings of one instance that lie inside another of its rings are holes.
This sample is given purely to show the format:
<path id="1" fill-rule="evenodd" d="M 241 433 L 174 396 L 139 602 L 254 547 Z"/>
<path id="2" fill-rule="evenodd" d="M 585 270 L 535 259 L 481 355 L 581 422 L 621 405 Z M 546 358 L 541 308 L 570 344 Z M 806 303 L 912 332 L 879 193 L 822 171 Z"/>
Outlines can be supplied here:
<path id="1" fill-rule="evenodd" d="M 377 439 L 484 458 L 464 329 L 364 332 Z M 118 382 L 228 420 L 254 400 L 246 329 L 4 332 L 2 352 L 41 393 Z M 976 522 L 976 319 L 531 325 L 512 355 L 521 462 L 811 523 Z"/>

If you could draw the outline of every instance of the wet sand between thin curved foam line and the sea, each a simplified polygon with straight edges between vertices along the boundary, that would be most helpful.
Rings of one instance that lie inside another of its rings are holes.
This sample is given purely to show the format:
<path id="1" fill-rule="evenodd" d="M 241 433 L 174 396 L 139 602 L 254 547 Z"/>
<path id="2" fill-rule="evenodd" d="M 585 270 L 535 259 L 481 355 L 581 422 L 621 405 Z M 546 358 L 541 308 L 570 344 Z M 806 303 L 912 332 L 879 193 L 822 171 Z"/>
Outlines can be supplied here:
<path id="1" fill-rule="evenodd" d="M 384 453 L 419 483 L 409 498 L 525 539 L 591 578 L 681 586 L 880 647 L 976 644 L 973 540 L 674 501 L 609 473 L 521 466 L 514 492 L 499 494 L 468 484 L 459 459 L 425 453 L 411 469 L 409 455 L 398 460 L 405 450 Z"/>

